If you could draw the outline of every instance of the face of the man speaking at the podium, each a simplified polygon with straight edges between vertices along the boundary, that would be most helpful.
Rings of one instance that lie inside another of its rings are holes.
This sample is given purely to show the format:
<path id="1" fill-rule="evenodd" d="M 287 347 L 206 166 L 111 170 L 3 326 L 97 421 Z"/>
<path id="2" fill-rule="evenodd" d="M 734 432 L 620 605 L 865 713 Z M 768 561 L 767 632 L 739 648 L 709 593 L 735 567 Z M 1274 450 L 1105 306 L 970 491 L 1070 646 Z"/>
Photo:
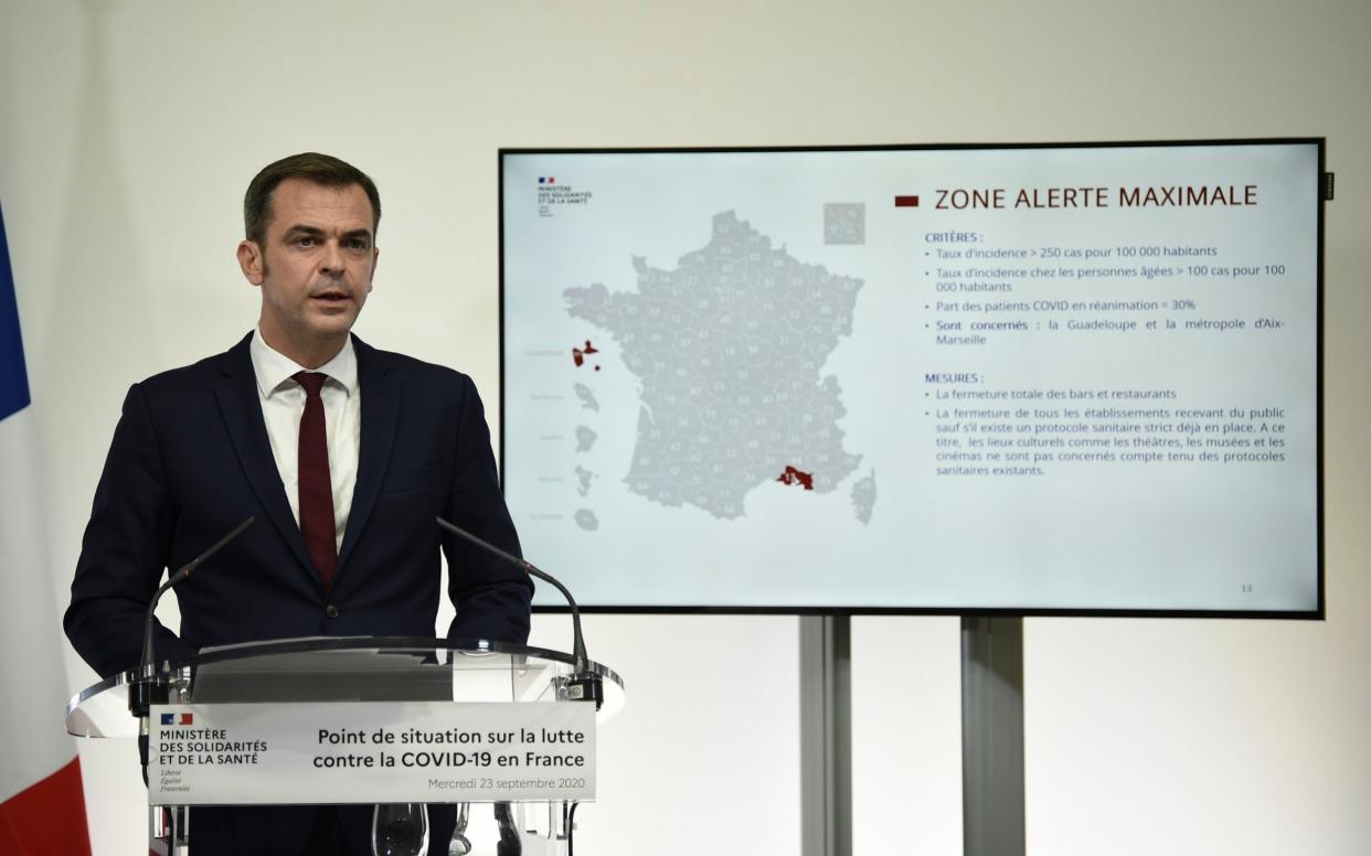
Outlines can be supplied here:
<path id="1" fill-rule="evenodd" d="M 300 178 L 271 193 L 265 245 L 239 244 L 239 264 L 262 288 L 262 337 L 317 368 L 343 347 L 372 290 L 378 251 L 372 203 L 358 185 Z"/>

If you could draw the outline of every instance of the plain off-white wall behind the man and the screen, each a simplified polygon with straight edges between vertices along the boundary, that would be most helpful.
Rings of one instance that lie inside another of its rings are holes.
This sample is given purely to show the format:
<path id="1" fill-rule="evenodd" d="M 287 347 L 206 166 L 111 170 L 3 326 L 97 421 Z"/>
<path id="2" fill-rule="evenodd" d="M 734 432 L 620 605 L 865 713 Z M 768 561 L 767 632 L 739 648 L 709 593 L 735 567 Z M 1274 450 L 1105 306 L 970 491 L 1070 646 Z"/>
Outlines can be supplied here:
<path id="1" fill-rule="evenodd" d="M 1328 619 L 1028 620 L 1028 851 L 1366 853 L 1368 44 L 1363 0 L 0 0 L 0 203 L 55 560 L 0 575 L 49 572 L 66 603 L 128 385 L 256 318 L 239 205 L 289 152 L 381 188 L 359 334 L 494 401 L 502 145 L 1327 136 Z M 535 640 L 563 633 L 540 618 Z M 798 852 L 795 620 L 595 616 L 588 637 L 631 700 L 584 851 Z M 858 619 L 854 649 L 857 852 L 960 852 L 956 619 Z M 143 852 L 132 748 L 82 763 L 96 853 Z"/>

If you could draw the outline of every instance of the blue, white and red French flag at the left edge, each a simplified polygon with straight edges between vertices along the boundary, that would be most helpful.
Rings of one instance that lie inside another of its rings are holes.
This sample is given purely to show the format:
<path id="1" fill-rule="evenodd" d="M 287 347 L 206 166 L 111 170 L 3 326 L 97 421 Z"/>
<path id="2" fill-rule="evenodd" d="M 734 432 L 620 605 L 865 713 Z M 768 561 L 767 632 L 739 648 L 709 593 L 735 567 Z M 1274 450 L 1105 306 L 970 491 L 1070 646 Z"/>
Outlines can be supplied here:
<path id="1" fill-rule="evenodd" d="M 62 727 L 64 645 L 43 541 L 38 429 L 29 401 L 0 214 L 0 662 L 14 689 L 0 694 L 0 853 L 89 856 L 81 763 Z"/>

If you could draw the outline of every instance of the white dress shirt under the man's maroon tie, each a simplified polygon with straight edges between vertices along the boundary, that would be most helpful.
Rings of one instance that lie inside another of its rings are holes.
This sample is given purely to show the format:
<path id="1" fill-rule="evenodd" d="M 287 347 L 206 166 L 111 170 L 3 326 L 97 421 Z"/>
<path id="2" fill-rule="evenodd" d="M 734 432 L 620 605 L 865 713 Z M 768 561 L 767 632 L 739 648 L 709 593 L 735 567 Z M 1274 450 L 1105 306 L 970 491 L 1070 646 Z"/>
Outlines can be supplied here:
<path id="1" fill-rule="evenodd" d="M 356 486 L 356 459 L 362 446 L 362 390 L 356 385 L 356 353 L 352 337 L 343 349 L 318 368 L 306 368 L 262 341 L 262 330 L 252 334 L 248 345 L 252 371 L 256 374 L 262 419 L 271 441 L 271 456 L 281 485 L 291 500 L 295 523 L 300 523 L 300 416 L 304 415 L 304 388 L 291 375 L 298 371 L 318 371 L 328 375 L 319 397 L 324 400 L 324 430 L 329 442 L 329 482 L 333 488 L 335 546 L 343 551 L 348 512 L 352 511 L 352 489 Z"/>

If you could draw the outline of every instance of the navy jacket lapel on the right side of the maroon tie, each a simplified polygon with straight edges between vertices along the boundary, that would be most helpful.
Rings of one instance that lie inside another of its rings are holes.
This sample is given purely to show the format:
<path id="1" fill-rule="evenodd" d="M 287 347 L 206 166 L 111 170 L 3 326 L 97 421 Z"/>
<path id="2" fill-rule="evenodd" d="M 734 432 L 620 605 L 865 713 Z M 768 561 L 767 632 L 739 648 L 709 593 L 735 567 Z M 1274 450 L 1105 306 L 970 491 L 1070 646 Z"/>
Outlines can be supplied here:
<path id="1" fill-rule="evenodd" d="M 358 451 L 356 486 L 352 489 L 352 509 L 348 512 L 343 551 L 339 553 L 337 572 L 341 574 L 358 538 L 366 529 L 366 519 L 376 507 L 376 497 L 385 481 L 395 441 L 395 425 L 400 412 L 400 379 L 391 371 L 387 356 L 358 337 L 352 337 L 356 351 L 358 388 L 362 392 L 362 446 Z"/>

